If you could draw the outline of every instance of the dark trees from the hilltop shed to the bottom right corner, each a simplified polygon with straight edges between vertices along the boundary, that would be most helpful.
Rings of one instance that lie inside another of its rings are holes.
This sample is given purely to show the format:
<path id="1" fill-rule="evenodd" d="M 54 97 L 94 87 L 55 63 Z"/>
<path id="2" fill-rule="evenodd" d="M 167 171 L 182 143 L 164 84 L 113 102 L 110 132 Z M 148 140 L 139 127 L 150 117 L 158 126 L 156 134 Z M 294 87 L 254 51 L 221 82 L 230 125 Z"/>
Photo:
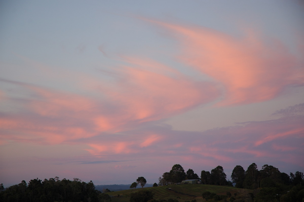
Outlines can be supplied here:
<path id="1" fill-rule="evenodd" d="M 244 196 L 237 196 L 238 199 L 234 198 L 236 196 L 230 197 L 230 201 L 304 201 L 304 174 L 299 171 L 288 175 L 281 173 L 278 168 L 267 164 L 262 166 L 261 170 L 258 170 L 257 165 L 252 163 L 246 171 L 242 166 L 235 166 L 231 174 L 232 181 L 227 181 L 226 177 L 222 166 L 217 166 L 211 172 L 202 170 L 201 178 L 199 178 L 192 169 L 185 173 L 181 165 L 175 164 L 170 172 L 166 172 L 162 177 L 159 177 L 158 185 L 176 184 L 182 180 L 195 179 L 201 180 L 202 184 L 210 185 L 232 186 L 233 183 L 236 183 L 235 187 L 237 188 L 253 191 Z M 208 197 L 211 196 L 209 195 Z M 216 195 L 214 197 L 218 198 Z M 215 198 L 213 200 L 217 201 Z"/>

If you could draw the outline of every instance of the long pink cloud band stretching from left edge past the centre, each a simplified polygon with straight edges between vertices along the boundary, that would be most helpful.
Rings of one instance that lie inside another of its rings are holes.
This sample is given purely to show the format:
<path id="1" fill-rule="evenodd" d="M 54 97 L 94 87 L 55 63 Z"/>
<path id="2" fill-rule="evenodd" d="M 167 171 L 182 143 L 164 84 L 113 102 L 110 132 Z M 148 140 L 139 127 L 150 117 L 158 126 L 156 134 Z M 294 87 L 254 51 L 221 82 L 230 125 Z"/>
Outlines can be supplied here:
<path id="1" fill-rule="evenodd" d="M 114 80 L 95 83 L 90 89 L 91 96 L 2 79 L 12 88 L 27 92 L 25 99 L 15 101 L 16 106 L 24 106 L 24 113 L 4 114 L 2 128 L 10 131 L 10 139 L 15 141 L 58 144 L 103 132 L 122 132 L 145 122 L 169 118 L 213 101 L 219 95 L 211 82 L 192 81 L 157 61 L 127 56 L 123 61 L 127 65 L 117 68 L 112 74 Z M 35 64 L 39 68 L 39 63 Z M 42 68 L 48 71 L 49 67 Z M 8 100 L 13 99 L 11 94 L 4 95 Z M 156 141 L 152 139 L 146 139 L 142 147 Z M 115 145 L 116 153 L 120 153 L 127 143 Z"/>

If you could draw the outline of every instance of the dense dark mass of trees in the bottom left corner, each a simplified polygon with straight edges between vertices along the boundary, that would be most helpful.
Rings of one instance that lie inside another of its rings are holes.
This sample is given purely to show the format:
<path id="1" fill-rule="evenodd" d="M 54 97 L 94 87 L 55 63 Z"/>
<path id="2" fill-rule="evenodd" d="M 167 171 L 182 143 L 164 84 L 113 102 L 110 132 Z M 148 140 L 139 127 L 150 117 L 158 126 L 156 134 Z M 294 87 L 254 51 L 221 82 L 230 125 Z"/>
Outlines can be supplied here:
<path id="1" fill-rule="evenodd" d="M 58 177 L 49 180 L 24 180 L 20 184 L 8 187 L 0 192 L 0 201 L 6 202 L 53 202 L 53 201 L 98 201 L 98 191 L 92 181 L 82 182 L 74 178 L 59 180 Z"/>

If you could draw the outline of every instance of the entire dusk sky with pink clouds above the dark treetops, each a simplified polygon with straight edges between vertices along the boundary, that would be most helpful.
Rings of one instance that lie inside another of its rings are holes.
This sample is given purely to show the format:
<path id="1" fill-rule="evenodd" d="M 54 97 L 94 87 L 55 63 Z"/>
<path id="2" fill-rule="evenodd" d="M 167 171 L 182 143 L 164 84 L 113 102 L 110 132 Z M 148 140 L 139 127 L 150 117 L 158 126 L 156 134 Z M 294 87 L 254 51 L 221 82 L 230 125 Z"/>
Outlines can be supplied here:
<path id="1" fill-rule="evenodd" d="M 1 1 L 0 183 L 304 172 L 304 3 Z"/>

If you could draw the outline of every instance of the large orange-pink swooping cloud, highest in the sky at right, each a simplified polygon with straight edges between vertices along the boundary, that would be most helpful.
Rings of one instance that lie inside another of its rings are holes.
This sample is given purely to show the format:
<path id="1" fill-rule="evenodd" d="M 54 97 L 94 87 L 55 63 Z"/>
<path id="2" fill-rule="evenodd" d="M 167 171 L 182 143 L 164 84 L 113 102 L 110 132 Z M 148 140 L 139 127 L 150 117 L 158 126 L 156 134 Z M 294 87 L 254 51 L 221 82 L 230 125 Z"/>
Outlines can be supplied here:
<path id="1" fill-rule="evenodd" d="M 237 38 L 205 27 L 143 20 L 178 34 L 178 59 L 223 84 L 225 99 L 219 105 L 266 101 L 287 85 L 303 84 L 303 69 L 278 40 L 266 44 L 250 31 Z"/>

